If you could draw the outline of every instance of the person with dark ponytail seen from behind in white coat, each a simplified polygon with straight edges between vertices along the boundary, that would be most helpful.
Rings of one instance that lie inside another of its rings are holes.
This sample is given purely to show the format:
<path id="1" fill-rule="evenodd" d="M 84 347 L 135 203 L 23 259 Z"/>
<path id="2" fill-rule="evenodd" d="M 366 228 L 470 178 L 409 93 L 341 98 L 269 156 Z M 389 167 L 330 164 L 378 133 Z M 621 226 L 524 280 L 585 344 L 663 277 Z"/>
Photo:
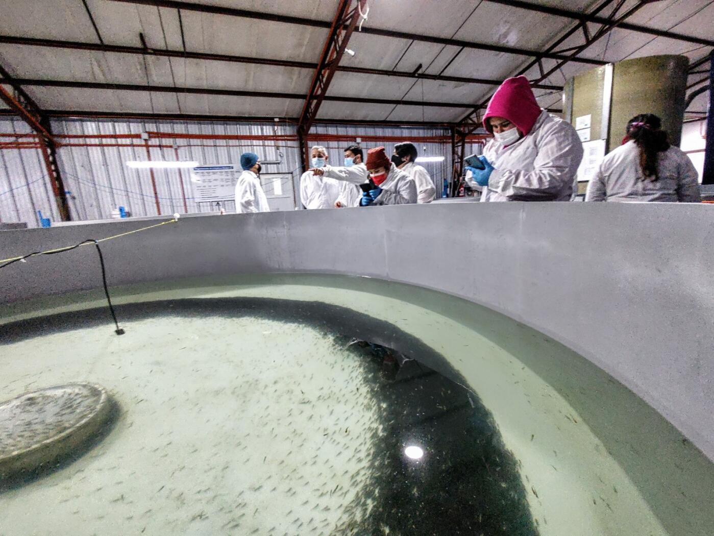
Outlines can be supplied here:
<path id="1" fill-rule="evenodd" d="M 697 170 L 670 145 L 658 116 L 640 113 L 626 130 L 623 145 L 605 156 L 590 179 L 585 201 L 701 201 Z"/>

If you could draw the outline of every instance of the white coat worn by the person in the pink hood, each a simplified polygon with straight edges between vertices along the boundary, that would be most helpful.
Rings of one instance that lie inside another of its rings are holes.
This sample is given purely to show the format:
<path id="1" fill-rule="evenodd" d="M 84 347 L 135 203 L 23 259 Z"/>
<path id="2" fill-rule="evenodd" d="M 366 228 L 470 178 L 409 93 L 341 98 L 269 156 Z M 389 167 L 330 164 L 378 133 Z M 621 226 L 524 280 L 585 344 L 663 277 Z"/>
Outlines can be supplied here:
<path id="1" fill-rule="evenodd" d="M 483 155 L 496 169 L 481 201 L 570 201 L 583 143 L 570 123 L 543 110 L 528 136 L 508 147 L 493 138 Z"/>

